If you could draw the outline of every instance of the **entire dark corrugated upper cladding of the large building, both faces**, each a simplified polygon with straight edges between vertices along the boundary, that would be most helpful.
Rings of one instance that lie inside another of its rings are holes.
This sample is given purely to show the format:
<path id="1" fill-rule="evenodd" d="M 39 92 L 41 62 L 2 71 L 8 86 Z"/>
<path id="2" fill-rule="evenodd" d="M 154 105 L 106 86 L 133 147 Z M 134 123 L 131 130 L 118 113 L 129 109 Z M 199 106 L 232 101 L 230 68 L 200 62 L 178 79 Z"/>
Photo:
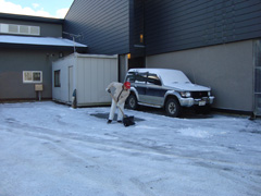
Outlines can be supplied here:
<path id="1" fill-rule="evenodd" d="M 90 53 L 142 56 L 261 37 L 261 0 L 75 0 L 64 30 Z M 145 19 L 142 17 L 145 15 Z"/>

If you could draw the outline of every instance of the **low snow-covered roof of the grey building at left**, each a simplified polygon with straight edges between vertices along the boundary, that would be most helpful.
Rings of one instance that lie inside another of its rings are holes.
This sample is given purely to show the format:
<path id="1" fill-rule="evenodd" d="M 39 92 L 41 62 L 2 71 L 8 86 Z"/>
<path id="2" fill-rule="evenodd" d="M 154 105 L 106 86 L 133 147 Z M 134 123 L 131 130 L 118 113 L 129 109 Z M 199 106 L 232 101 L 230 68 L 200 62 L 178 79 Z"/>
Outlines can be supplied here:
<path id="1" fill-rule="evenodd" d="M 73 40 L 58 37 L 27 37 L 0 35 L 0 45 L 29 45 L 29 46 L 50 46 L 50 47 L 77 47 L 87 48 L 86 45 L 74 42 Z"/>

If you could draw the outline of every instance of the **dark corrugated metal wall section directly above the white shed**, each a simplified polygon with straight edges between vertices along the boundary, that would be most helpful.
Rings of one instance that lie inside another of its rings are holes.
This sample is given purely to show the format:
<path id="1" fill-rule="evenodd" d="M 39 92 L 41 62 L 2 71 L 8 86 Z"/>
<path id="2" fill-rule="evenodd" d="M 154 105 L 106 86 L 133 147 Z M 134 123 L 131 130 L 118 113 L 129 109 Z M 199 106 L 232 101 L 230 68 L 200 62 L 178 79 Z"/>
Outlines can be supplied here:
<path id="1" fill-rule="evenodd" d="M 89 53 L 129 51 L 129 1 L 75 0 L 64 21 L 64 32 L 82 34 Z"/>

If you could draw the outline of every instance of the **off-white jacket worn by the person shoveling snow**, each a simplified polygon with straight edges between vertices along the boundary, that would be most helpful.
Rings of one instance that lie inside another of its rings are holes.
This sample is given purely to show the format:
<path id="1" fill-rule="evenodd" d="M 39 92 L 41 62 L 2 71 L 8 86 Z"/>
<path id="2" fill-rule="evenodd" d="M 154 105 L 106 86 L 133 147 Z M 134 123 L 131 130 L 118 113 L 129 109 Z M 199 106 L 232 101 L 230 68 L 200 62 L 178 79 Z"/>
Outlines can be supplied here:
<path id="1" fill-rule="evenodd" d="M 116 83 L 116 82 L 113 82 L 113 83 L 109 84 L 109 86 L 107 87 L 107 90 L 111 89 L 111 87 L 115 88 L 113 97 L 115 98 L 116 102 L 119 105 L 125 102 L 125 100 L 127 99 L 127 97 L 129 95 L 129 89 L 125 90 L 124 87 L 123 87 L 123 84 L 122 83 Z"/>

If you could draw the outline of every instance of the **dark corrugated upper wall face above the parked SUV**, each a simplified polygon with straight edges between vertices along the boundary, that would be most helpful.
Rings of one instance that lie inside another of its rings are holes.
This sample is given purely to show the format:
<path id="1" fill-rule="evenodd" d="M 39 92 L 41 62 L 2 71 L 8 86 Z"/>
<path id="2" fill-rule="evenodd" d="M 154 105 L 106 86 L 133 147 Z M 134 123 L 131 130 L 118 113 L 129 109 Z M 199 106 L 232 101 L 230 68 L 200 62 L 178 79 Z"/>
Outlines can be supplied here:
<path id="1" fill-rule="evenodd" d="M 149 56 L 261 36 L 260 0 L 145 2 Z"/>

